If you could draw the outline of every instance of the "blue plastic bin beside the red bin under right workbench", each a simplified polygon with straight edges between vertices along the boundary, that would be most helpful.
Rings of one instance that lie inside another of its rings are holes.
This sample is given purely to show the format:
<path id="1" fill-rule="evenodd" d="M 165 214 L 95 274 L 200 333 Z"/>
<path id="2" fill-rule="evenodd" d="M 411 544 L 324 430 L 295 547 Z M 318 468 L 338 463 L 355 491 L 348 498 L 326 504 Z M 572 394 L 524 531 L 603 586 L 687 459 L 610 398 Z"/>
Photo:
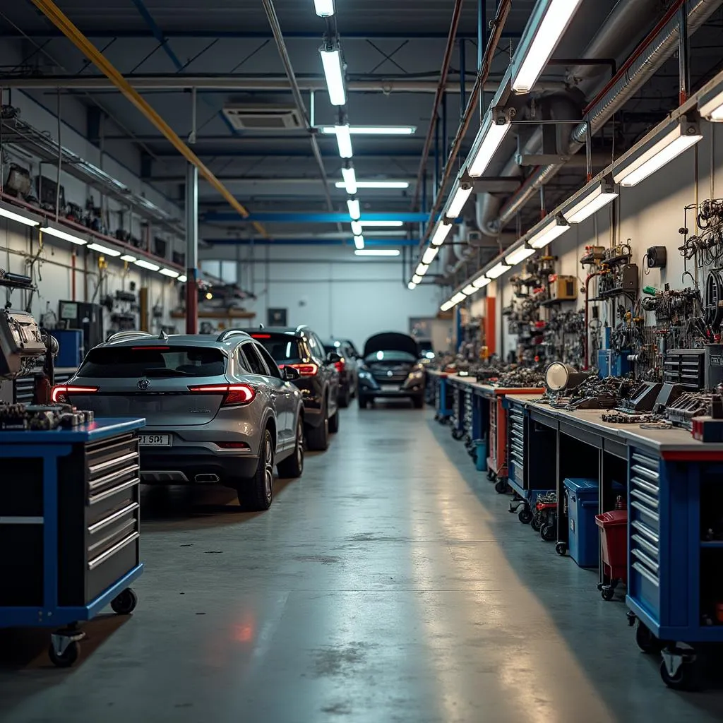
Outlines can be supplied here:
<path id="1" fill-rule="evenodd" d="M 598 509 L 596 479 L 565 479 L 568 501 L 568 549 L 581 568 L 596 568 L 599 562 L 599 535 L 595 525 Z"/>

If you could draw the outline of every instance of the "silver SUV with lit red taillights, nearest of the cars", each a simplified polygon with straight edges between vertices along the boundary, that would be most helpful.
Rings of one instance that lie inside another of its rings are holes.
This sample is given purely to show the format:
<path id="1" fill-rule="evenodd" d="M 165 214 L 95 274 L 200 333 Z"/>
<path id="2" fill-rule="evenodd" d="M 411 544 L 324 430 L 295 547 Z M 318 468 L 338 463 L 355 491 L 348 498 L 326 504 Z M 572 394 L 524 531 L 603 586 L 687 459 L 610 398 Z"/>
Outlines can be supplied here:
<path id="1" fill-rule="evenodd" d="M 91 349 L 54 401 L 95 416 L 145 417 L 140 474 L 150 484 L 221 482 L 242 505 L 268 509 L 273 468 L 304 467 L 304 405 L 268 351 L 247 333 L 218 338 L 121 332 Z"/>

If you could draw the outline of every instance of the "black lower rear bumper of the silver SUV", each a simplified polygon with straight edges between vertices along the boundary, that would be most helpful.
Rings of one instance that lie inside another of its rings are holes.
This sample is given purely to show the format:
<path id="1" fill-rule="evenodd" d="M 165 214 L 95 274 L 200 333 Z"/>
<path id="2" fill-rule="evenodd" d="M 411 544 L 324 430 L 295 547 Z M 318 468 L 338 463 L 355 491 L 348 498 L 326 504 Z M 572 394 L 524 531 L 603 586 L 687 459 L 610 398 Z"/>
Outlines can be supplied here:
<path id="1" fill-rule="evenodd" d="M 144 484 L 234 485 L 251 478 L 258 464 L 258 455 L 217 455 L 202 447 L 140 449 L 140 479 Z M 199 475 L 202 477 L 197 479 Z M 213 475 L 218 479 L 212 479 Z"/>

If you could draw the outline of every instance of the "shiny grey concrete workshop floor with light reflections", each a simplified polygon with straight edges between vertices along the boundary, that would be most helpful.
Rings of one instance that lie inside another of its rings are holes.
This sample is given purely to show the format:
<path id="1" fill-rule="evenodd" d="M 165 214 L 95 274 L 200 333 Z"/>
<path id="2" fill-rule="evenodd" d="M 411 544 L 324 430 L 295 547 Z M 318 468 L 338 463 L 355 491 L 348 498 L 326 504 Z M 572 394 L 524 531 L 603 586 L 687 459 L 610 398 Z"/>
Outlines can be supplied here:
<path id="1" fill-rule="evenodd" d="M 140 604 L 76 667 L 0 631 L 0 720 L 720 721 L 664 688 L 625 606 L 507 512 L 430 411 L 342 411 L 267 513 L 226 490 L 144 495 Z M 551 460 L 552 463 L 552 460 Z"/>

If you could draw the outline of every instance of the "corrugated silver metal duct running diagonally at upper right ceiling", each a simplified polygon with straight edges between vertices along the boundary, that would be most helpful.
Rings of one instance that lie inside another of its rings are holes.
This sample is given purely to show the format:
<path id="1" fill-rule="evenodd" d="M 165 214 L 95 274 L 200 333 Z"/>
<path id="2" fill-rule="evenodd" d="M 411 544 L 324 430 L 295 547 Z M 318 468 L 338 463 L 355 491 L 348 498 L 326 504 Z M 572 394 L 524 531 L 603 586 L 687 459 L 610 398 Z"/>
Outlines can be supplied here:
<path id="1" fill-rule="evenodd" d="M 711 14 L 720 7 L 722 2 L 723 0 L 688 0 L 686 3 L 688 9 L 688 35 L 695 33 L 711 17 Z M 636 93 L 641 85 L 647 82 L 662 64 L 675 53 L 678 45 L 679 26 L 680 18 L 676 14 L 667 22 L 651 43 L 643 49 L 641 54 L 630 64 L 625 73 L 616 80 L 615 84 L 609 88 L 607 93 L 591 108 L 588 117 L 593 134 L 607 123 L 628 98 Z M 608 32 L 607 26 L 603 32 Z M 569 148 L 566 153 L 570 155 L 577 153 L 585 145 L 586 136 L 587 122 L 578 124 L 570 135 Z M 564 164 L 554 163 L 542 166 L 529 176 L 523 187 L 502 207 L 499 218 L 494 222 L 495 226 L 503 228 L 506 223 L 511 221 L 515 214 L 530 200 L 536 189 L 547 184 L 560 171 L 562 165 Z"/>

